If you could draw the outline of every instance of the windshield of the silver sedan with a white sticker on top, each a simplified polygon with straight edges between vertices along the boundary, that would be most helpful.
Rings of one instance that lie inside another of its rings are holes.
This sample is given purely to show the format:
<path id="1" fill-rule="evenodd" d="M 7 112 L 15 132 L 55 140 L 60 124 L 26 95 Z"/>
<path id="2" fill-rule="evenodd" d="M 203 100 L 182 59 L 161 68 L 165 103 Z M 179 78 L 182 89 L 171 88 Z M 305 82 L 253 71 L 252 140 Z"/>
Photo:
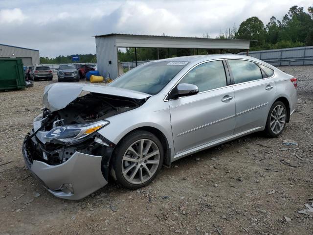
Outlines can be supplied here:
<path id="1" fill-rule="evenodd" d="M 128 71 L 108 86 L 147 94 L 159 93 L 188 64 L 183 61 L 151 62 Z"/>

